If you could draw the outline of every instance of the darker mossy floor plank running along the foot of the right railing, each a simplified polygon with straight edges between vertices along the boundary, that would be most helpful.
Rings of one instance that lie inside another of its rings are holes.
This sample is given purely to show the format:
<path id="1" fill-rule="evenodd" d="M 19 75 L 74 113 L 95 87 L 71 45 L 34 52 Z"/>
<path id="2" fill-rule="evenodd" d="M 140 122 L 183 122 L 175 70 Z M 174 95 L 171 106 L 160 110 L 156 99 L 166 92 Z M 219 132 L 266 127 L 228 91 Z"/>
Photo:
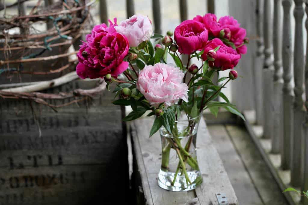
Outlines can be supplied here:
<path id="1" fill-rule="evenodd" d="M 271 205 L 287 205 L 277 183 L 270 174 L 257 148 L 251 141 L 245 128 L 234 125 L 227 125 L 227 131 L 236 147 L 241 154 L 241 159 L 249 172 L 254 186 L 257 188 L 262 202 Z"/>

